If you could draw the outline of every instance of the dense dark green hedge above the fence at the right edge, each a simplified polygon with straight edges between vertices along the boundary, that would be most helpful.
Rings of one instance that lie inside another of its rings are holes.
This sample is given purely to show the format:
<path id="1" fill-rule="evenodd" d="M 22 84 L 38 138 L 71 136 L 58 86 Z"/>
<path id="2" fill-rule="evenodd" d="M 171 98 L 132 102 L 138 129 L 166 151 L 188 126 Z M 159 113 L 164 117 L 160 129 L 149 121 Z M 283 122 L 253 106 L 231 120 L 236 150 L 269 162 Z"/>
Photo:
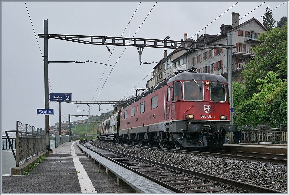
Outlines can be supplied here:
<path id="1" fill-rule="evenodd" d="M 271 124 L 287 123 L 287 80 L 264 99 L 265 120 Z"/>

